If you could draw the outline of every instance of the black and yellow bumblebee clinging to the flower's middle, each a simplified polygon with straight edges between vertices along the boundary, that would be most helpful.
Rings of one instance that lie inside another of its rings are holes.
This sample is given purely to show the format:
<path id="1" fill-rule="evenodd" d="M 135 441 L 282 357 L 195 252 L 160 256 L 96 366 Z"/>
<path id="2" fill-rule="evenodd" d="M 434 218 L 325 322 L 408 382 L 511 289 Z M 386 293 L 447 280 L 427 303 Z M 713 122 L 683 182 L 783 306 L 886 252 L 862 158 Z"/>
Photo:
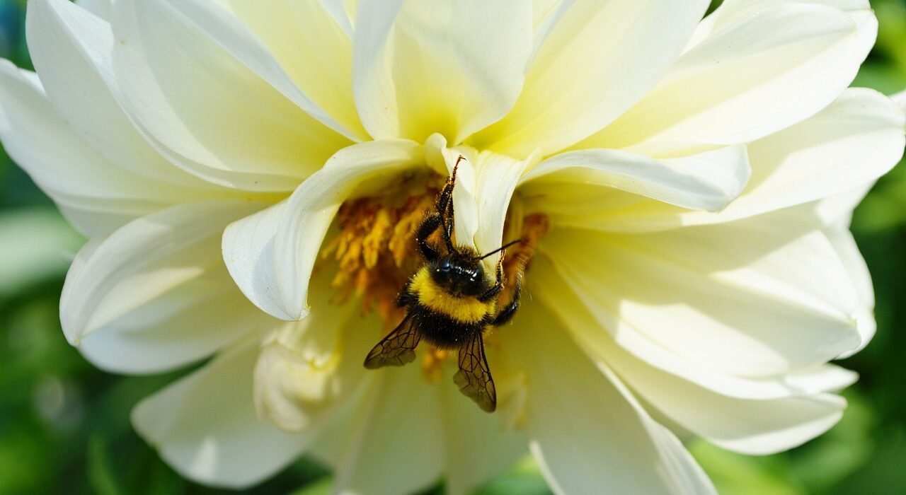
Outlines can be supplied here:
<path id="1" fill-rule="evenodd" d="M 480 254 L 470 246 L 454 245 L 453 187 L 459 157 L 453 172 L 438 195 L 436 212 L 425 217 L 416 231 L 416 243 L 425 259 L 397 296 L 397 306 L 406 309 L 399 326 L 381 339 L 365 357 L 369 369 L 402 366 L 415 359 L 415 347 L 425 339 L 434 347 L 458 351 L 459 371 L 453 381 L 459 391 L 488 413 L 496 409 L 497 395 L 487 366 L 483 335 L 505 324 L 519 308 L 520 280 L 511 299 L 502 309 L 497 300 L 504 289 L 503 261 L 506 248 L 517 239 L 492 252 Z M 440 229 L 442 246 L 428 238 Z M 482 260 L 501 252 L 494 277 L 485 272 Z"/>

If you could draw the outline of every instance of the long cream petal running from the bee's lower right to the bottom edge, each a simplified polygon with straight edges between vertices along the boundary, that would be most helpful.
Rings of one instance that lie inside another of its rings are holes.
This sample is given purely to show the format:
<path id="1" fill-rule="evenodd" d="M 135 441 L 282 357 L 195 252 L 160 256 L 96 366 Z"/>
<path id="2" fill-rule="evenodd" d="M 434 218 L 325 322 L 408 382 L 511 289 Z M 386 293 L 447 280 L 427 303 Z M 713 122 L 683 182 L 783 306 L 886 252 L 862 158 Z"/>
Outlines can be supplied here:
<path id="1" fill-rule="evenodd" d="M 507 366 L 527 374 L 525 428 L 554 492 L 714 492 L 679 440 L 550 313 L 526 304 L 517 318 L 518 332 L 502 331 L 501 346 Z"/>

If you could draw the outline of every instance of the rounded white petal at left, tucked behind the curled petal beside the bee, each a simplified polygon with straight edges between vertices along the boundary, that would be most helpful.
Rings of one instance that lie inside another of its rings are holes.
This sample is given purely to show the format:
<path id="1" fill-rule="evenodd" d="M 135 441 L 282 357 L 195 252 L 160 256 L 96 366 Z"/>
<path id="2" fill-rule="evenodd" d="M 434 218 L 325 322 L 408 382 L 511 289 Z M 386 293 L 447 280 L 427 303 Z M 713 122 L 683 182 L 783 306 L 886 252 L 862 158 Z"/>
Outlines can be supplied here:
<path id="1" fill-rule="evenodd" d="M 275 322 L 229 282 L 224 227 L 260 205 L 216 200 L 172 206 L 88 243 L 63 286 L 63 333 L 97 366 L 127 373 L 207 357 Z"/>

